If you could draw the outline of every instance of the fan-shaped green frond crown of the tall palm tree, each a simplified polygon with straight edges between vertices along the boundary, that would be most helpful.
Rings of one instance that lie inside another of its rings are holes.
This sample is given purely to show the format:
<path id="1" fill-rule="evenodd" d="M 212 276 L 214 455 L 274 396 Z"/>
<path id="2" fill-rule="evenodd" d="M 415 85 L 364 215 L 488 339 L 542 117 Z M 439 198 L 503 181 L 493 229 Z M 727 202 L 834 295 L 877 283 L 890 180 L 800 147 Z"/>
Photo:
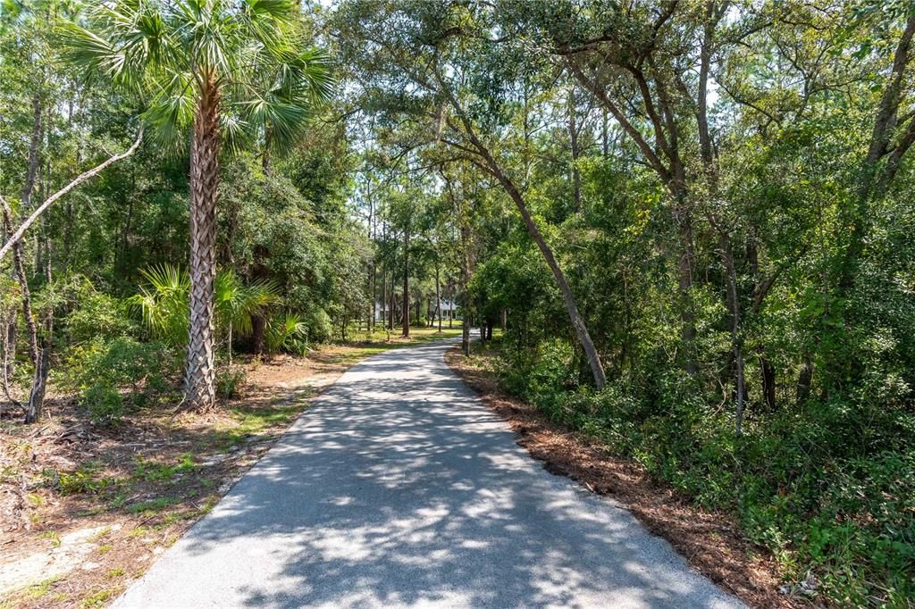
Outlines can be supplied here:
<path id="1" fill-rule="evenodd" d="M 289 2 L 238 10 L 226 0 L 199 9 L 116 0 L 63 29 L 74 63 L 145 97 L 145 123 L 163 144 L 182 145 L 204 90 L 217 87 L 222 137 L 238 149 L 261 130 L 271 148 L 295 144 L 332 91 L 327 56 L 304 47 L 297 26 Z"/>

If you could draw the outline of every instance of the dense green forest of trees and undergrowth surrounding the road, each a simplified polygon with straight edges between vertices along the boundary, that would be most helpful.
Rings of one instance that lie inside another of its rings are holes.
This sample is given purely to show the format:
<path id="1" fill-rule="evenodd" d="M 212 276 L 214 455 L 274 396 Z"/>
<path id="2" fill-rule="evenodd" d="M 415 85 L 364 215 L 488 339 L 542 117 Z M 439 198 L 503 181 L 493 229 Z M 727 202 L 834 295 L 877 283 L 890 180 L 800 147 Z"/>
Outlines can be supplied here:
<path id="1" fill-rule="evenodd" d="M 786 582 L 910 606 L 913 37 L 910 0 L 5 0 L 3 424 L 219 408 L 233 357 L 456 304 Z"/>

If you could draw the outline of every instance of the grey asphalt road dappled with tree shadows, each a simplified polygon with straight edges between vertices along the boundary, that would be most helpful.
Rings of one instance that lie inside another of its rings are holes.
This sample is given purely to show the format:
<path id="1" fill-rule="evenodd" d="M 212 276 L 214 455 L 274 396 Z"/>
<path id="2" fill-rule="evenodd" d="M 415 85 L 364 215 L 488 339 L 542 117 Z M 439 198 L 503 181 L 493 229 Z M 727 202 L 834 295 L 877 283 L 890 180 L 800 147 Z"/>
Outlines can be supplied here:
<path id="1" fill-rule="evenodd" d="M 116 607 L 741 607 L 447 368 L 351 368 Z"/>

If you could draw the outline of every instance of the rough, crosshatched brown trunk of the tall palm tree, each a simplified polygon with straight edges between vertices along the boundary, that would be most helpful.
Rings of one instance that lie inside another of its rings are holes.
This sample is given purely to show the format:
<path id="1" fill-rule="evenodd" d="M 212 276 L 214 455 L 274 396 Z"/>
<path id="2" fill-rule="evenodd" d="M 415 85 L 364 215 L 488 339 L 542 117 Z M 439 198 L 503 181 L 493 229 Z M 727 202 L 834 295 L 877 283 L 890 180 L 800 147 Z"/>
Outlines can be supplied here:
<path id="1" fill-rule="evenodd" d="M 190 151 L 190 326 L 185 372 L 188 409 L 216 403 L 213 289 L 216 281 L 216 201 L 219 198 L 220 94 L 210 76 L 194 117 Z"/>

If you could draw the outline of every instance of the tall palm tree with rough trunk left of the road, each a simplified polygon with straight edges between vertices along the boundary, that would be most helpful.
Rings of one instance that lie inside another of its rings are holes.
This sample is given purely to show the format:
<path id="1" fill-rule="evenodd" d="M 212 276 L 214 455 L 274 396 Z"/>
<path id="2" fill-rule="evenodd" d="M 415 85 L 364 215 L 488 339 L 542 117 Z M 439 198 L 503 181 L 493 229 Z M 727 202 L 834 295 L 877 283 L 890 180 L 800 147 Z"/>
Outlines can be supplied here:
<path id="1" fill-rule="evenodd" d="M 326 57 L 304 44 L 297 0 L 108 0 L 70 26 L 75 61 L 138 93 L 163 143 L 190 137 L 188 408 L 215 402 L 213 295 L 222 144 L 296 141 L 327 99 Z M 264 137 L 266 135 L 266 137 Z M 264 142 L 265 140 L 265 142 Z"/>

